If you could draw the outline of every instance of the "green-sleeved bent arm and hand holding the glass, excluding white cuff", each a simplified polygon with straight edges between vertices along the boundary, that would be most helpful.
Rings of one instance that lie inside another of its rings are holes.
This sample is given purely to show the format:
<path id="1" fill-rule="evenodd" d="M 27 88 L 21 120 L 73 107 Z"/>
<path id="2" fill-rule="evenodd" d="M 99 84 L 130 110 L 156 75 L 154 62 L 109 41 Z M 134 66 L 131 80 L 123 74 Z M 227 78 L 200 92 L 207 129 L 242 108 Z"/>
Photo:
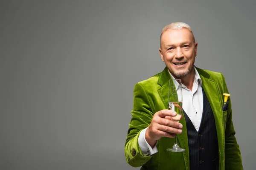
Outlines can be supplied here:
<path id="1" fill-rule="evenodd" d="M 137 83 L 134 87 L 134 105 L 131 111 L 132 118 L 129 124 L 127 139 L 125 142 L 125 158 L 128 164 L 139 167 L 145 164 L 152 156 L 143 155 L 138 140 L 140 133 L 145 130 L 145 140 L 150 147 L 154 147 L 161 137 L 174 137 L 181 133 L 182 124 L 172 120 L 177 113 L 170 110 L 161 110 L 154 113 L 154 103 L 148 99 L 142 85 Z M 153 114 L 154 113 L 154 114 Z"/>

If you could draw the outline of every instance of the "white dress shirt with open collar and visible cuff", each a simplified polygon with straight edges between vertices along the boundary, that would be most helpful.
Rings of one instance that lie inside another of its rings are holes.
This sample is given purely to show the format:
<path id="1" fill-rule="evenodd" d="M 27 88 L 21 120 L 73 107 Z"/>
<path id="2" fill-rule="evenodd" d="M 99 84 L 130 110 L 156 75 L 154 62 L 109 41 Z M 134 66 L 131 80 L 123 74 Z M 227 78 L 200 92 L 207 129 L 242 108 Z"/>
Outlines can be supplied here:
<path id="1" fill-rule="evenodd" d="M 198 131 L 201 124 L 202 114 L 203 114 L 203 92 L 202 92 L 202 80 L 200 78 L 200 75 L 198 74 L 198 71 L 196 70 L 195 67 L 194 67 L 194 70 L 195 70 L 195 79 L 194 79 L 192 91 L 186 88 L 185 85 L 181 84 L 182 94 L 183 94 L 182 108 L 186 112 L 186 114 L 189 116 L 189 119 L 191 120 L 195 129 Z M 171 73 L 170 75 L 172 79 L 175 79 Z M 178 87 L 176 83 L 175 83 L 175 86 L 176 88 Z M 143 129 L 140 132 L 138 143 L 143 155 L 151 156 L 154 153 L 157 153 L 158 150 L 156 147 L 157 144 L 155 144 L 155 146 L 152 148 L 146 141 L 145 131 L 147 130 L 147 128 Z"/>

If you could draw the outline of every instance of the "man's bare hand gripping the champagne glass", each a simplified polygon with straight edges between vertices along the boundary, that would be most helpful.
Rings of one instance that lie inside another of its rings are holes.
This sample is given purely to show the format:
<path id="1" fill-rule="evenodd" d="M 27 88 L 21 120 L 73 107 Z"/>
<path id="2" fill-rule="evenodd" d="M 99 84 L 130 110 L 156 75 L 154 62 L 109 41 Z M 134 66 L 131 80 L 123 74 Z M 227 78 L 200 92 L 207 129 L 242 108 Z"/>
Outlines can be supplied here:
<path id="1" fill-rule="evenodd" d="M 183 125 L 173 121 L 177 115 L 175 111 L 161 110 L 154 114 L 152 121 L 145 132 L 145 139 L 151 147 L 154 147 L 157 140 L 161 137 L 173 138 L 177 133 L 181 133 Z M 182 119 L 182 116 L 180 116 Z M 180 120 L 179 119 L 179 120 Z M 175 120 L 177 120 L 175 118 Z"/>

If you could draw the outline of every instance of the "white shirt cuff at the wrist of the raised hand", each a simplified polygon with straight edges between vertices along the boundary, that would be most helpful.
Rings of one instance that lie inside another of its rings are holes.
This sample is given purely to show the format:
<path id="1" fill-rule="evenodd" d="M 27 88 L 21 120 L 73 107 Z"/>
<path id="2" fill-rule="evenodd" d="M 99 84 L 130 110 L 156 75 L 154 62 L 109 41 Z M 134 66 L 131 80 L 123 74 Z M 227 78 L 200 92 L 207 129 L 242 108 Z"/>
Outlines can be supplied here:
<path id="1" fill-rule="evenodd" d="M 148 128 L 148 127 L 147 127 Z M 143 129 L 140 131 L 140 135 L 139 135 L 139 138 L 138 138 L 138 143 L 139 143 L 139 146 L 140 146 L 140 150 L 142 152 L 142 154 L 144 156 L 151 156 L 153 155 L 154 153 L 157 153 L 158 150 L 157 150 L 157 143 L 154 145 L 154 147 L 152 148 L 148 142 L 146 141 L 145 139 L 145 132 L 147 130 L 147 128 Z"/>

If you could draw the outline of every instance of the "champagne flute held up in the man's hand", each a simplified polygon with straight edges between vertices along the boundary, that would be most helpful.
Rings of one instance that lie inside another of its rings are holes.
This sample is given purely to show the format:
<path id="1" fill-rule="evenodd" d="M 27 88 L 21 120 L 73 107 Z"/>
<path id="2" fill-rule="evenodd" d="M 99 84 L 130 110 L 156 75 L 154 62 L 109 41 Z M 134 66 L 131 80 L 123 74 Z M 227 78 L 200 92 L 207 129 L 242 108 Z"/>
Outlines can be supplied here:
<path id="1" fill-rule="evenodd" d="M 172 117 L 172 120 L 179 122 L 182 115 L 182 88 L 181 79 L 170 79 L 169 80 L 169 92 L 168 92 L 168 108 L 169 110 L 175 111 L 177 115 Z M 170 152 L 184 152 L 177 144 L 177 136 L 175 136 L 175 143 L 172 148 L 168 148 Z"/>

